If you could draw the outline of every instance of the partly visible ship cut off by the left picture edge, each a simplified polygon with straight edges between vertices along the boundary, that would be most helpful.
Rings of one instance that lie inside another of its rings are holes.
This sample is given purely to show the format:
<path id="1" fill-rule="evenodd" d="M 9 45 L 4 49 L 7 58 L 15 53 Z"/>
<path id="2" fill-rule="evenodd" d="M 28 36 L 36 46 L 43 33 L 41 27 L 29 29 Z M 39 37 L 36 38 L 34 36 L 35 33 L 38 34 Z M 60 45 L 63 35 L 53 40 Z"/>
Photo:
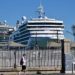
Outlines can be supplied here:
<path id="1" fill-rule="evenodd" d="M 14 31 L 14 28 L 10 26 L 7 21 L 0 21 L 0 44 L 9 41 L 9 36 Z"/>

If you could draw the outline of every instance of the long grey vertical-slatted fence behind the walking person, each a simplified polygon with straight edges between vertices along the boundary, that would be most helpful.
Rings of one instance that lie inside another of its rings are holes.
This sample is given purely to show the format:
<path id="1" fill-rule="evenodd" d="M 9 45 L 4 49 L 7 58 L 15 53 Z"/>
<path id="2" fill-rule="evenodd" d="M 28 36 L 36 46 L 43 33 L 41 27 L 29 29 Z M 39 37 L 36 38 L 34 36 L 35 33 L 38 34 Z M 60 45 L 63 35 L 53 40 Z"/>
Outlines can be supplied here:
<path id="1" fill-rule="evenodd" d="M 15 63 L 17 67 L 20 67 L 20 59 L 24 53 L 26 54 L 27 67 L 61 69 L 61 49 L 0 50 L 0 68 L 12 68 Z"/>

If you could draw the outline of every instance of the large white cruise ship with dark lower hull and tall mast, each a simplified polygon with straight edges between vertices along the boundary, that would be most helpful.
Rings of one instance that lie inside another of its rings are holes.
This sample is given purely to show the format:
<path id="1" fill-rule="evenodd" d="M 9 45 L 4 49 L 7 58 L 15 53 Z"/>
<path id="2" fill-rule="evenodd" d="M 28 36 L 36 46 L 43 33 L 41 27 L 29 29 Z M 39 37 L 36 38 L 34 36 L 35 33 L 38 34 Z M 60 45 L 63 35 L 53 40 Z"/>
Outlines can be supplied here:
<path id="1" fill-rule="evenodd" d="M 45 15 L 44 7 L 38 7 L 38 17 L 27 19 L 22 17 L 16 23 L 16 30 L 10 39 L 17 43 L 33 48 L 37 44 L 40 48 L 47 47 L 52 40 L 64 39 L 64 24 L 61 20 L 51 19 Z"/>

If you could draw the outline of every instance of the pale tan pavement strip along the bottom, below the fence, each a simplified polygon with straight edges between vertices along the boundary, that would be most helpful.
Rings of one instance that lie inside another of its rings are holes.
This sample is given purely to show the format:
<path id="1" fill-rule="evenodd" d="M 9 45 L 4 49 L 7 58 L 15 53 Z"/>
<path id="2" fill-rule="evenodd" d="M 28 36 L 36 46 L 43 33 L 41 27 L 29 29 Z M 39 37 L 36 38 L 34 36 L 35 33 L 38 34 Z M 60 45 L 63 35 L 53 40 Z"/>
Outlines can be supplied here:
<path id="1" fill-rule="evenodd" d="M 59 74 L 57 71 L 39 71 L 41 74 L 39 75 L 52 75 L 52 74 Z M 37 71 L 26 71 L 26 72 L 21 72 L 21 71 L 9 71 L 9 72 L 0 72 L 0 75 L 38 75 Z"/>

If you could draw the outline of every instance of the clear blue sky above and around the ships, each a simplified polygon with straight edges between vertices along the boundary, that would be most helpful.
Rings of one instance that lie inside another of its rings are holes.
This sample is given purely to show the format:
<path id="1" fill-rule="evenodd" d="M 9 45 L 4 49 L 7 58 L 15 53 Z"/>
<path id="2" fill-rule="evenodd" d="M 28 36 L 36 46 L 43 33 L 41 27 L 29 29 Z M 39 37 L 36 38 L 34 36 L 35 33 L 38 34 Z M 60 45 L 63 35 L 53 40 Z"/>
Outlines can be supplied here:
<path id="1" fill-rule="evenodd" d="M 75 24 L 75 0 L 42 0 L 46 16 L 64 22 L 65 37 L 73 39 L 72 25 Z M 8 24 L 15 26 L 22 16 L 28 19 L 38 17 L 37 8 L 40 0 L 0 0 L 0 21 L 6 20 Z"/>

